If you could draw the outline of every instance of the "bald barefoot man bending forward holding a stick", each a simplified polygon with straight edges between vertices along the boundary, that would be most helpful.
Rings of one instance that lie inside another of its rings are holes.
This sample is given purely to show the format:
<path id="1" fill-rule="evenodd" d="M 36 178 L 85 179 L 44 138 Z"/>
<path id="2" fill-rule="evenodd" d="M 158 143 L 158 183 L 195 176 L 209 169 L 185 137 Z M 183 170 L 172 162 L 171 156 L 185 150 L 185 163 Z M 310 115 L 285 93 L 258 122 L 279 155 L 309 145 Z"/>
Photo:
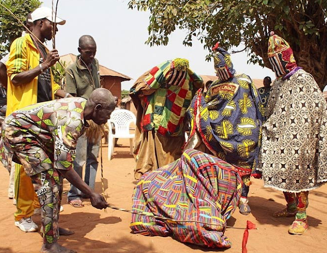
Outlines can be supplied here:
<path id="1" fill-rule="evenodd" d="M 59 228 L 58 224 L 63 177 L 89 196 L 95 208 L 107 208 L 104 198 L 88 187 L 73 169 L 73 162 L 77 140 L 88 127 L 87 120 L 102 125 L 114 108 L 110 91 L 98 88 L 88 100 L 65 98 L 43 102 L 14 111 L 6 118 L 0 157 L 6 168 L 11 168 L 12 160 L 24 165 L 26 174 L 35 182 L 42 211 L 41 252 L 75 252 L 57 243 L 59 234 L 73 233 Z"/>

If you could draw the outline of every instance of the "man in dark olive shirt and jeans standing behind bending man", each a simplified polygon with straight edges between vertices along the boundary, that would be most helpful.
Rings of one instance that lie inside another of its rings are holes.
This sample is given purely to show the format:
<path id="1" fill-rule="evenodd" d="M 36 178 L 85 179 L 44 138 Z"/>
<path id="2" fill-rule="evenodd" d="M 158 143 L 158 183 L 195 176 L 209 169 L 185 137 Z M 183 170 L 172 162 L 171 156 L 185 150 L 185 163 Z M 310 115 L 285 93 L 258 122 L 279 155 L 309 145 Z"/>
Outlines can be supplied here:
<path id="1" fill-rule="evenodd" d="M 78 41 L 78 52 L 76 61 L 67 67 L 65 91 L 75 97 L 89 99 L 92 91 L 100 88 L 100 71 L 99 62 L 95 58 L 97 52 L 97 44 L 90 35 L 83 35 Z M 95 126 L 95 124 L 92 124 Z M 95 129 L 98 129 L 96 131 Z M 100 128 L 93 129 L 97 133 L 101 133 Z M 89 131 L 89 130 L 88 130 Z M 74 160 L 74 169 L 82 178 L 83 166 L 85 166 L 84 181 L 94 190 L 96 175 L 98 169 L 98 154 L 100 149 L 101 134 L 96 138 L 89 139 L 83 134 L 77 142 L 76 159 Z M 83 195 L 80 190 L 71 185 L 68 192 L 68 203 L 76 208 L 84 206 L 82 198 L 88 196 Z"/>

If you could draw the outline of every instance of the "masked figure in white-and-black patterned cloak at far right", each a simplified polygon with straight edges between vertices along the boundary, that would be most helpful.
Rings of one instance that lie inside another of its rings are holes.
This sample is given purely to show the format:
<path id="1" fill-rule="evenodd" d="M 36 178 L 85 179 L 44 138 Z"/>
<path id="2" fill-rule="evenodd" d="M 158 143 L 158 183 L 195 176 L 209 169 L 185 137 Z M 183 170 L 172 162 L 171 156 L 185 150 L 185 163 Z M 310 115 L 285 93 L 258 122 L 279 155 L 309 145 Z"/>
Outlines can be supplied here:
<path id="1" fill-rule="evenodd" d="M 262 129 L 259 168 L 264 186 L 284 192 L 287 208 L 275 217 L 295 216 L 290 234 L 308 228 L 308 191 L 327 181 L 327 103 L 312 75 L 296 65 L 286 40 L 271 34 L 268 57 L 277 79 Z"/>

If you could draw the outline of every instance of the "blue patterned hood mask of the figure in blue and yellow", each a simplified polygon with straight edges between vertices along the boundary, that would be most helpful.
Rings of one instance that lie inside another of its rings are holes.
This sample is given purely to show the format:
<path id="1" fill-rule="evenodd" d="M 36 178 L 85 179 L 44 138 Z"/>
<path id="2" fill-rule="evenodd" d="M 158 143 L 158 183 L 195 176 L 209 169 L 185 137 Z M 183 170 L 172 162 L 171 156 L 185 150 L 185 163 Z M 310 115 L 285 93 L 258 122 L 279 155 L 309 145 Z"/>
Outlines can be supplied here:
<path id="1" fill-rule="evenodd" d="M 218 78 L 221 81 L 226 81 L 229 78 L 232 78 L 235 74 L 235 70 L 231 63 L 230 54 L 226 50 L 219 48 L 219 42 L 216 43 L 212 50 Z"/>

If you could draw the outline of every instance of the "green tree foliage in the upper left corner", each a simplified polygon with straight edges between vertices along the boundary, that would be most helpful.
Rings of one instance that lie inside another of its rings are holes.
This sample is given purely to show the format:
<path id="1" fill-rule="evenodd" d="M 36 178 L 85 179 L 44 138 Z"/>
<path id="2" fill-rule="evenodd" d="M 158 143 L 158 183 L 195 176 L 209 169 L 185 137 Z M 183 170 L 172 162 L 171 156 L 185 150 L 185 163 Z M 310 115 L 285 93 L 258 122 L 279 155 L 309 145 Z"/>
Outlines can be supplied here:
<path id="1" fill-rule="evenodd" d="M 27 14 L 38 8 L 42 2 L 39 0 L 0 0 L 1 4 L 11 10 L 24 24 Z M 11 42 L 21 36 L 25 28 L 2 6 L 0 6 L 0 58 L 8 51 Z"/>

